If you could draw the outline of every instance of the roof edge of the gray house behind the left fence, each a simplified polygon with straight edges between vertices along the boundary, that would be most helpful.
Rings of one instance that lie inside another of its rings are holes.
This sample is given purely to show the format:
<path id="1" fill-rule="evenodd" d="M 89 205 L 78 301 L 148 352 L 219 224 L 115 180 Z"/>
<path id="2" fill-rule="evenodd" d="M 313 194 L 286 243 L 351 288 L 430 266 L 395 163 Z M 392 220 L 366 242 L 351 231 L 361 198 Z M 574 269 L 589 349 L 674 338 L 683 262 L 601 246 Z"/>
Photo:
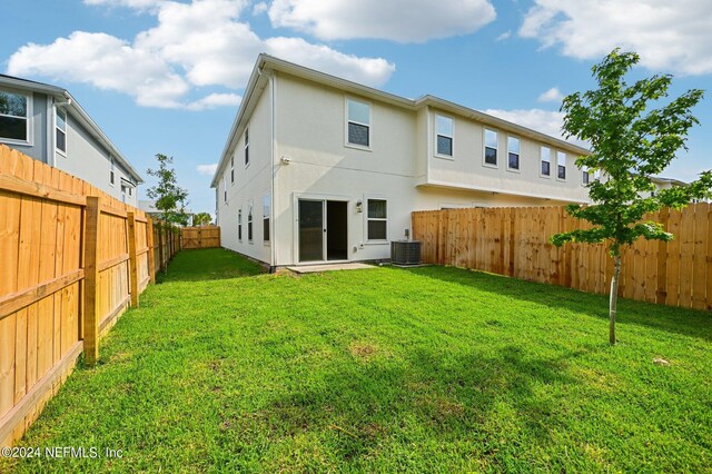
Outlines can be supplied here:
<path id="1" fill-rule="evenodd" d="M 123 154 L 109 140 L 109 137 L 99 128 L 97 122 L 93 121 L 89 113 L 79 105 L 77 99 L 72 97 L 67 89 L 61 87 L 51 86 L 49 83 L 37 82 L 29 79 L 17 78 L 13 76 L 0 75 L 0 86 L 7 86 L 13 89 L 46 93 L 48 96 L 58 99 L 62 106 L 66 107 L 70 117 L 82 125 L 89 135 L 99 141 L 116 159 L 127 172 L 136 179 L 138 184 L 144 182 L 141 175 L 136 171 L 131 164 L 126 159 Z"/>

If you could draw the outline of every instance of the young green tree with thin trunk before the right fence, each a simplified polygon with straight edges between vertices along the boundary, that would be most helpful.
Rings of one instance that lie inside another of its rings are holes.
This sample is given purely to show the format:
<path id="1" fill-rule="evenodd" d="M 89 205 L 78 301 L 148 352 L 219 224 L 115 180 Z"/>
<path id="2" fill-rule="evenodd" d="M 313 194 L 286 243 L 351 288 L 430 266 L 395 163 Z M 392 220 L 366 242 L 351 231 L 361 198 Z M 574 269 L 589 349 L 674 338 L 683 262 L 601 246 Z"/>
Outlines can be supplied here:
<path id="1" fill-rule="evenodd" d="M 616 342 L 621 248 L 639 237 L 671 240 L 672 234 L 659 223 L 644 221 L 644 215 L 664 206 L 681 209 L 692 199 L 709 196 L 712 188 L 712 171 L 704 171 L 689 186 L 655 191 L 651 178 L 668 167 L 676 151 L 686 149 L 688 130 L 699 124 L 691 109 L 703 92 L 689 90 L 668 105 L 651 109 L 649 102 L 668 97 L 672 76 L 653 76 L 629 86 L 624 76 L 639 59 L 634 52 L 613 50 L 592 69 L 599 88 L 573 93 L 561 107 L 566 138 L 591 142 L 591 155 L 580 157 L 576 165 L 599 170 L 603 178 L 589 185 L 592 205 L 566 207 L 570 215 L 593 227 L 557 234 L 552 243 L 558 247 L 570 241 L 607 245 L 614 261 L 609 310 L 611 344 Z"/>

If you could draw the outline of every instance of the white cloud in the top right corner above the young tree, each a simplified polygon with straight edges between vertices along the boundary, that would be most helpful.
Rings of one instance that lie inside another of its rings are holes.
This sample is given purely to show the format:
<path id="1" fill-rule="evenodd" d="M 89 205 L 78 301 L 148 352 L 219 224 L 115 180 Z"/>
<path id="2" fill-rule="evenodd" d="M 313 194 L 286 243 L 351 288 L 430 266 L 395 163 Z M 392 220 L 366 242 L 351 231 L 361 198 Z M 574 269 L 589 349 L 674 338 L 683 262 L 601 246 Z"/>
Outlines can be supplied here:
<path id="1" fill-rule="evenodd" d="M 573 58 L 599 59 L 620 46 L 650 69 L 704 75 L 712 72 L 710 18 L 709 0 L 535 0 L 518 33 Z"/>

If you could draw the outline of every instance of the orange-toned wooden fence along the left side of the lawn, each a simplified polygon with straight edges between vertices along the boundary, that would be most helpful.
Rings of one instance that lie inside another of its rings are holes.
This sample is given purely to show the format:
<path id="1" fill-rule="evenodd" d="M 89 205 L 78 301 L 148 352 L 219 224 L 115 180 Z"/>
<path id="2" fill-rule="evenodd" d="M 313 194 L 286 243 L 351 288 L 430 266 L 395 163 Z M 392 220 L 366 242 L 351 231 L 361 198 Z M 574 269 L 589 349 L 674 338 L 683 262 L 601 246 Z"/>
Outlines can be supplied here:
<path id="1" fill-rule="evenodd" d="M 0 446 L 138 304 L 155 280 L 154 235 L 141 210 L 0 146 Z"/>

